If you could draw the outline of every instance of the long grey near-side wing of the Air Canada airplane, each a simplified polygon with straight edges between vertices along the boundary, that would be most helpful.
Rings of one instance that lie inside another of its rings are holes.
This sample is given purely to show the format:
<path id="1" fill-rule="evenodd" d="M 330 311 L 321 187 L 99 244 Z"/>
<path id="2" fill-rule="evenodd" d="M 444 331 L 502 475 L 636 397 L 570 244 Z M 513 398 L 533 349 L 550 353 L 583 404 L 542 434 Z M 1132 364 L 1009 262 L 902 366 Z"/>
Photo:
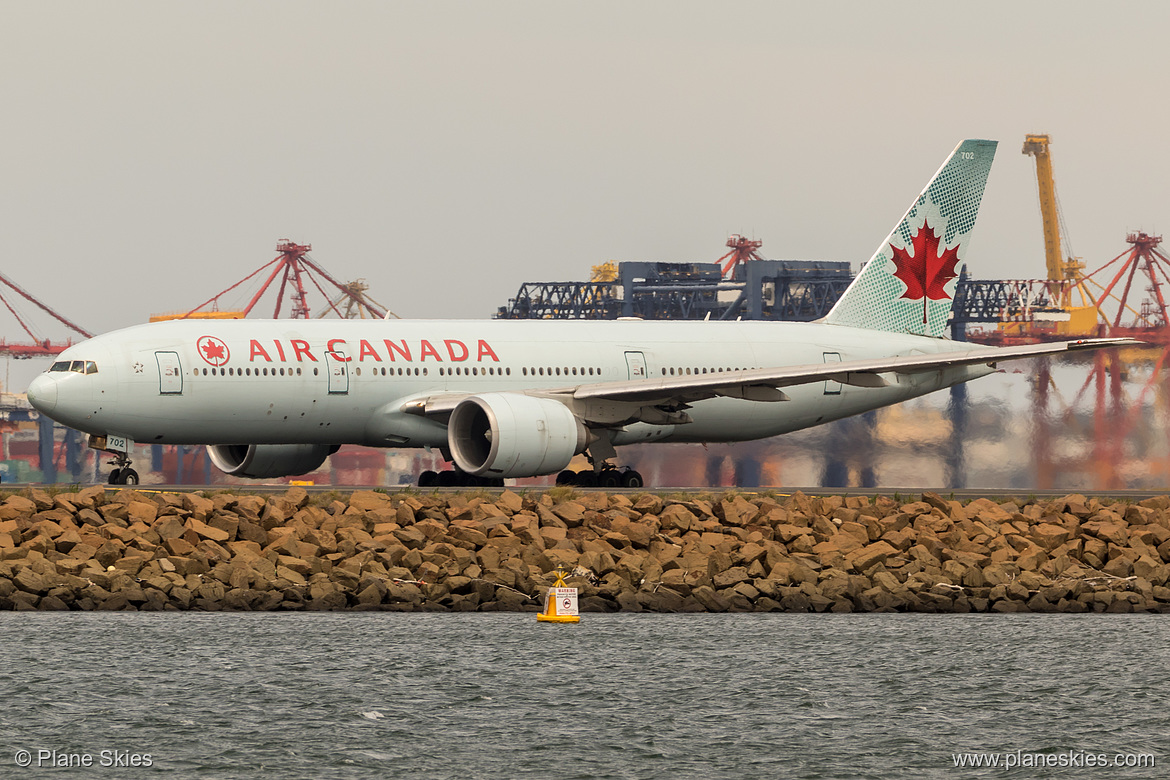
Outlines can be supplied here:
<path id="1" fill-rule="evenodd" d="M 711 374 L 662 377 L 659 379 L 592 382 L 589 385 L 526 391 L 526 394 L 555 398 L 566 402 L 570 400 L 603 400 L 635 403 L 690 403 L 720 395 L 742 398 L 751 401 L 784 401 L 787 400 L 787 395 L 780 388 L 794 385 L 832 380 L 855 387 L 885 387 L 889 385 L 889 380 L 882 374 L 914 374 L 923 371 L 979 364 L 994 366 L 1003 360 L 1019 360 L 1106 347 L 1141 346 L 1142 344 L 1143 341 L 1131 338 L 1092 338 L 1007 347 L 968 345 L 969 348 L 965 350 L 936 354 L 872 358 L 831 364 L 818 363 L 777 368 L 749 368 Z M 474 395 L 474 393 L 435 393 L 411 399 L 401 408 L 404 412 L 412 414 L 446 417 L 460 401 L 469 395 Z"/>

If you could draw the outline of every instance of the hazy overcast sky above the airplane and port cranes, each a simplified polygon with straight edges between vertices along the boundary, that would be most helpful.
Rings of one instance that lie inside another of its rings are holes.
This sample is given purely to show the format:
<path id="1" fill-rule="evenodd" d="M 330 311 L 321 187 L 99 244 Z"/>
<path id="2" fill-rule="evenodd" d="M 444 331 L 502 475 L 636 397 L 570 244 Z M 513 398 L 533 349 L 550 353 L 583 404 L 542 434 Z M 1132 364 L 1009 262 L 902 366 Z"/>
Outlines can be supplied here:
<path id="1" fill-rule="evenodd" d="M 1041 277 L 1028 132 L 1094 268 L 1170 226 L 1168 8 L 0 0 L 0 270 L 98 332 L 289 237 L 404 317 L 489 317 L 731 233 L 856 267 L 980 137 L 972 272 Z"/>

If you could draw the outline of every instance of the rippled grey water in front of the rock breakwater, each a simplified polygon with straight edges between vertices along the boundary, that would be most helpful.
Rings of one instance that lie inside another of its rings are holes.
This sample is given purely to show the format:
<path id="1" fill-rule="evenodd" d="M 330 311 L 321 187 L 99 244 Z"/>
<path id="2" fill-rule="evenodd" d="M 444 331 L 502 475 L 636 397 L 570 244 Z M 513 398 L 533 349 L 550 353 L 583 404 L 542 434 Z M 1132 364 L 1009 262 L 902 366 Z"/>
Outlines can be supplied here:
<path id="1" fill-rule="evenodd" d="M 1166 776 L 1159 615 L 0 614 L 0 778 Z M 1152 753 L 1143 769 L 952 754 Z M 151 767 L 101 766 L 113 753 Z M 68 758 L 58 760 L 69 760 Z M 139 759 L 145 760 L 145 759 Z"/>

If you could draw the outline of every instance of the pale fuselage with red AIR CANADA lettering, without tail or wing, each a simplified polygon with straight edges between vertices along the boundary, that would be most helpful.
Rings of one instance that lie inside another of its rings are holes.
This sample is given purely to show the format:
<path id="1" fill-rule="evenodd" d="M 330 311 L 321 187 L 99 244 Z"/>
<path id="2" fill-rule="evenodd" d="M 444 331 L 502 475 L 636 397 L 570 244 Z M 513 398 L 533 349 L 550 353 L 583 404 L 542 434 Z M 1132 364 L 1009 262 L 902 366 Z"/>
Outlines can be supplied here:
<path id="1" fill-rule="evenodd" d="M 404 412 L 406 402 L 628 381 L 641 372 L 687 377 L 954 348 L 941 339 L 815 323 L 173 320 L 70 347 L 56 371 L 34 380 L 29 398 L 67 426 L 142 443 L 441 447 L 446 426 Z M 62 370 L 64 361 L 95 370 Z M 818 381 L 785 388 L 785 401 L 713 398 L 688 409 L 693 422 L 633 423 L 613 443 L 762 439 L 992 371 L 890 374 L 886 387 Z"/>

